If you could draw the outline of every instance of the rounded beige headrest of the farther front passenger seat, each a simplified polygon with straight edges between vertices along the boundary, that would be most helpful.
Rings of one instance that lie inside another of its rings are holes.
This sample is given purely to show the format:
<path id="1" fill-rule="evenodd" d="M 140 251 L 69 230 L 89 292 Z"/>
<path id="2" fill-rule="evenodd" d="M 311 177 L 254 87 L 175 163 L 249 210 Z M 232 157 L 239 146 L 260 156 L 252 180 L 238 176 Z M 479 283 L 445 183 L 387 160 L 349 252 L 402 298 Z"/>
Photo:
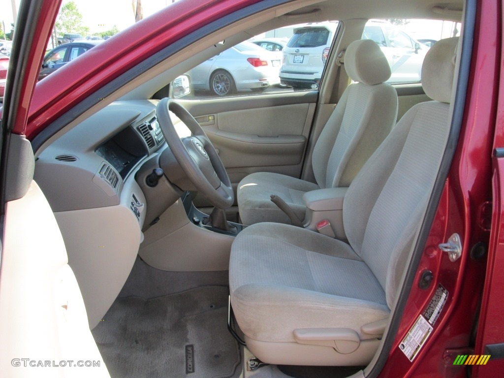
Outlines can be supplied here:
<path id="1" fill-rule="evenodd" d="M 390 79 L 390 66 L 380 46 L 370 39 L 360 39 L 348 45 L 345 52 L 345 70 L 353 81 L 367 85 Z"/>

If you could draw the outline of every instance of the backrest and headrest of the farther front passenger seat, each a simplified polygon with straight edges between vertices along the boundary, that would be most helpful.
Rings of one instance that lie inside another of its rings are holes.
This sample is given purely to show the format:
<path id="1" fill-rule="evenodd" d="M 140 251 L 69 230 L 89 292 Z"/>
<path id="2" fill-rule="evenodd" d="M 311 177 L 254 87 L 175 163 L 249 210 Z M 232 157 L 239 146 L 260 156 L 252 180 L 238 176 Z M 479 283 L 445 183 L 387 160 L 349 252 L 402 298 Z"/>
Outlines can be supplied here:
<path id="1" fill-rule="evenodd" d="M 357 83 L 343 93 L 313 150 L 313 172 L 322 188 L 348 186 L 397 117 L 396 90 L 384 83 L 390 67 L 375 42 L 350 43 L 344 65 Z"/>

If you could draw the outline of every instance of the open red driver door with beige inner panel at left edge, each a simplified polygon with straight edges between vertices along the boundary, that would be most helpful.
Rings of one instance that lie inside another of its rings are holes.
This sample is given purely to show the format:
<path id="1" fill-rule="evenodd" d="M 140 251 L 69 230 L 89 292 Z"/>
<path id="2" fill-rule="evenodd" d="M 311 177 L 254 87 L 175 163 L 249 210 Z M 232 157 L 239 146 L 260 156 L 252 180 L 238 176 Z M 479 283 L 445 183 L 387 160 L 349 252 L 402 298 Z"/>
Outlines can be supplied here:
<path id="1" fill-rule="evenodd" d="M 23 2 L 2 114 L 0 371 L 4 376 L 109 376 L 23 133 L 60 2 Z M 19 27 L 19 26 L 26 27 Z"/>

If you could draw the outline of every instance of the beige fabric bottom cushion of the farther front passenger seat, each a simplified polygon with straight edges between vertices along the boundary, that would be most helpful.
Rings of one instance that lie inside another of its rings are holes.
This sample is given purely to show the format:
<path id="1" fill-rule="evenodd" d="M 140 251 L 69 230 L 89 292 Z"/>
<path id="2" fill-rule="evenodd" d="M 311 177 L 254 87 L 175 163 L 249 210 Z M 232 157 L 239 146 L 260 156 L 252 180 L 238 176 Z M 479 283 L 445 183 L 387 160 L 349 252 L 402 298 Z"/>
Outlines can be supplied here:
<path id="1" fill-rule="evenodd" d="M 241 221 L 243 224 L 265 221 L 289 224 L 289 217 L 270 201 L 272 194 L 288 203 L 302 221 L 306 212 L 303 194 L 317 189 L 320 189 L 317 184 L 283 174 L 271 172 L 249 174 L 238 184 L 237 199 Z"/>

